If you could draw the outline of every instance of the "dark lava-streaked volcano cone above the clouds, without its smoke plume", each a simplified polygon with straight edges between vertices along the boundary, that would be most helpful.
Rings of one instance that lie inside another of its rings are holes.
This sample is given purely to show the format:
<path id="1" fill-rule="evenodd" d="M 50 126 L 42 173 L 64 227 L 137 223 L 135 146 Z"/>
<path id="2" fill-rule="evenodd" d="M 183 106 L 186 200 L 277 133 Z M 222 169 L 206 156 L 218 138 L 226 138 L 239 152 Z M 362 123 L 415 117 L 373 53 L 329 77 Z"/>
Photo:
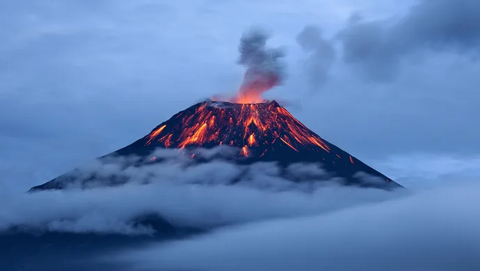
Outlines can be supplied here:
<path id="1" fill-rule="evenodd" d="M 339 177 L 346 186 L 367 186 L 391 190 L 401 187 L 387 176 L 323 140 L 307 129 L 276 101 L 259 104 L 234 104 L 207 99 L 170 117 L 155 127 L 147 136 L 99 159 L 137 156 L 145 163 L 161 163 L 154 156 L 156 149 L 212 149 L 230 146 L 237 152 L 230 162 L 249 165 L 274 162 L 280 167 L 298 163 L 313 163 L 326 170 L 330 176 Z M 90 179 L 97 176 L 92 175 Z M 114 179 L 111 176 L 110 179 Z M 376 181 L 365 181 L 365 179 Z M 67 173 L 31 188 L 35 190 L 63 189 L 74 181 Z"/>

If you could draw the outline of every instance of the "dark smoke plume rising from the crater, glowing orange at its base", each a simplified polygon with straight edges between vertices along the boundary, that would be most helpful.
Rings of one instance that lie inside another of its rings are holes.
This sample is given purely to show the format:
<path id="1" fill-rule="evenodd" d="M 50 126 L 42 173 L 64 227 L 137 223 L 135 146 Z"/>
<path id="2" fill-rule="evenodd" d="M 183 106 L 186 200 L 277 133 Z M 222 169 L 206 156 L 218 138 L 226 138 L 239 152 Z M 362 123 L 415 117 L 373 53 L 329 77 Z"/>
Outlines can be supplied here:
<path id="1" fill-rule="evenodd" d="M 246 67 L 246 73 L 233 102 L 262 102 L 262 94 L 284 80 L 285 64 L 281 59 L 285 56 L 285 51 L 267 47 L 266 41 L 269 38 L 270 35 L 262 28 L 250 28 L 243 33 L 238 63 Z"/>

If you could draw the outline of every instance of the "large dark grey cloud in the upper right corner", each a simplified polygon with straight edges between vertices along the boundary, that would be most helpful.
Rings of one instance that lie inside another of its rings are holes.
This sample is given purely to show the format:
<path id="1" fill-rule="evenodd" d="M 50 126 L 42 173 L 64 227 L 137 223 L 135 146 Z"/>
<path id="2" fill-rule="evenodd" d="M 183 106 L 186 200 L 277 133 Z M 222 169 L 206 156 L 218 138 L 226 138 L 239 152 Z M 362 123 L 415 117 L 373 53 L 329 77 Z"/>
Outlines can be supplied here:
<path id="1" fill-rule="evenodd" d="M 403 60 L 425 50 L 478 56 L 478 17 L 479 1 L 422 0 L 399 19 L 365 20 L 355 13 L 338 38 L 345 63 L 371 80 L 391 81 Z"/>

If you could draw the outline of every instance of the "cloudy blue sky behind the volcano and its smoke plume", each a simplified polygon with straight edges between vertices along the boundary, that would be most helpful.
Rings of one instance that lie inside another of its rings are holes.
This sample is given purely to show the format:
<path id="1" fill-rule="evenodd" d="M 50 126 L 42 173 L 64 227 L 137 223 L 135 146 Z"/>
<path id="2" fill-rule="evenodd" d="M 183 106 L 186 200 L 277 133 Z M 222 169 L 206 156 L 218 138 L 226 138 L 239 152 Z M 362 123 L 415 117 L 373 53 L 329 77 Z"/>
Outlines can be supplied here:
<path id="1" fill-rule="evenodd" d="M 286 101 L 310 129 L 394 179 L 455 172 L 480 154 L 478 4 L 426 1 L 410 10 L 414 3 L 2 3 L 3 182 L 42 183 L 197 101 L 234 92 L 243 76 L 237 46 L 250 26 L 271 31 L 271 45 L 287 51 L 285 85 L 266 97 Z M 364 23 L 349 25 L 357 15 Z M 327 69 L 305 65 L 322 60 L 297 43 L 310 25 L 335 47 Z M 327 79 L 312 85 L 320 73 Z"/>

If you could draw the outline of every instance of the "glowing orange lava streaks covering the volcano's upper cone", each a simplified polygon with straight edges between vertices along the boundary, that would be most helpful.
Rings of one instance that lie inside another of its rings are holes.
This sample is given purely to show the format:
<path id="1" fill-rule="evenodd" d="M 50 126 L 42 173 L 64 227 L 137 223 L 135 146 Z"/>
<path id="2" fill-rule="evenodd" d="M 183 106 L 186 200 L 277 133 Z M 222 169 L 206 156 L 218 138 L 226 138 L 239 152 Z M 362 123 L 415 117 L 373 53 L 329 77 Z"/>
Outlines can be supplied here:
<path id="1" fill-rule="evenodd" d="M 175 124 L 166 122 L 145 139 L 145 145 L 183 149 L 227 144 L 241 149 L 241 156 L 250 156 L 256 149 L 264 155 L 274 144 L 284 144 L 294 151 L 315 149 L 330 152 L 319 136 L 296 120 L 275 101 L 261 104 L 231 104 L 208 101 L 175 117 Z M 168 128 L 170 127 L 170 128 Z"/>

